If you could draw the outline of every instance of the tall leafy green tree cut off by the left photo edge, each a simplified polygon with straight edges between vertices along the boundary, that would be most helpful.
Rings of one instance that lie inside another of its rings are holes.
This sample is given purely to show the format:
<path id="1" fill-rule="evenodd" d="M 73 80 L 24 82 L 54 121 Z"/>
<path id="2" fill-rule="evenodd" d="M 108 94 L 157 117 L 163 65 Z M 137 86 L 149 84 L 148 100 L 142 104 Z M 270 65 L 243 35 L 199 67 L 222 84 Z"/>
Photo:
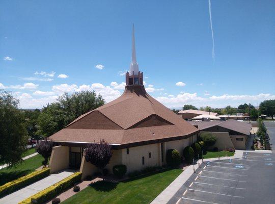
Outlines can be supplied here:
<path id="1" fill-rule="evenodd" d="M 26 150 L 24 114 L 11 92 L 0 90 L 0 163 L 16 165 Z"/>

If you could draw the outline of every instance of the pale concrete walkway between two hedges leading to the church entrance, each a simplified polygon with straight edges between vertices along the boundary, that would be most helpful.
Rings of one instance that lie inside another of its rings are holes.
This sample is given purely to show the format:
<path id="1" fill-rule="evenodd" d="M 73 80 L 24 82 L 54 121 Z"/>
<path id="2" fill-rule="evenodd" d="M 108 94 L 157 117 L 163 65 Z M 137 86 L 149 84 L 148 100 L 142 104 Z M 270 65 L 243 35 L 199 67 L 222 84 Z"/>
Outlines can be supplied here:
<path id="1" fill-rule="evenodd" d="M 0 204 L 17 204 L 18 202 L 48 188 L 49 186 L 60 182 L 61 180 L 65 179 L 66 177 L 73 174 L 75 171 L 73 170 L 64 170 L 59 173 L 53 173 L 49 176 L 45 177 L 42 180 L 39 180 L 29 186 L 26 186 L 14 193 L 6 195 L 5 197 L 0 199 Z"/>

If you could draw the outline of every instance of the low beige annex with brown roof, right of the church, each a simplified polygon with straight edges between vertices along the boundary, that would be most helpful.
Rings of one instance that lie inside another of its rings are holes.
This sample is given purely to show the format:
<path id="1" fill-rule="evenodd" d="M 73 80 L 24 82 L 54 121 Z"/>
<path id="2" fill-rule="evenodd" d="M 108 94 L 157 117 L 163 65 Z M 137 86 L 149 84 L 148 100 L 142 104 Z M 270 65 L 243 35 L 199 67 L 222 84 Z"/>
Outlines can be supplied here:
<path id="1" fill-rule="evenodd" d="M 234 119 L 226 121 L 189 121 L 198 127 L 200 134 L 210 132 L 217 137 L 214 147 L 219 149 L 243 149 L 245 150 L 252 125 Z"/>

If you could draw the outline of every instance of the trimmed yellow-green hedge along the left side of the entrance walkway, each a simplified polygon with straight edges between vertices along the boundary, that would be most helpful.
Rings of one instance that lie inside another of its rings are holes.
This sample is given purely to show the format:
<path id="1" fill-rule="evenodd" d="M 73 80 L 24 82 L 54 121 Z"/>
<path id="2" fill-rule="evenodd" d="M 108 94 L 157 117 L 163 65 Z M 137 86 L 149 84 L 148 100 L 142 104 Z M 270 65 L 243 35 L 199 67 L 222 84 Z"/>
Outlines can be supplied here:
<path id="1" fill-rule="evenodd" d="M 50 174 L 50 168 L 43 168 L 39 171 L 34 171 L 28 175 L 22 176 L 17 180 L 11 181 L 9 183 L 0 186 L 0 197 L 12 193 L 24 186 L 28 186 L 43 177 L 46 177 Z"/>

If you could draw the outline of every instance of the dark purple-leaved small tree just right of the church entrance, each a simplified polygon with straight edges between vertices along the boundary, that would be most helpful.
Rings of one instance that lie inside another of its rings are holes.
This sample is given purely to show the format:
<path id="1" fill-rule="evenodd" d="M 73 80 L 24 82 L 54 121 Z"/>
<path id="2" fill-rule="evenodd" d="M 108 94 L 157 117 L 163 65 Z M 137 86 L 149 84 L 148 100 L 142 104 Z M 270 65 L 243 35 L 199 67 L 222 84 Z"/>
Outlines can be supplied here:
<path id="1" fill-rule="evenodd" d="M 85 160 L 99 168 L 103 174 L 103 168 L 109 163 L 113 155 L 111 145 L 104 140 L 90 144 L 85 150 Z"/>

